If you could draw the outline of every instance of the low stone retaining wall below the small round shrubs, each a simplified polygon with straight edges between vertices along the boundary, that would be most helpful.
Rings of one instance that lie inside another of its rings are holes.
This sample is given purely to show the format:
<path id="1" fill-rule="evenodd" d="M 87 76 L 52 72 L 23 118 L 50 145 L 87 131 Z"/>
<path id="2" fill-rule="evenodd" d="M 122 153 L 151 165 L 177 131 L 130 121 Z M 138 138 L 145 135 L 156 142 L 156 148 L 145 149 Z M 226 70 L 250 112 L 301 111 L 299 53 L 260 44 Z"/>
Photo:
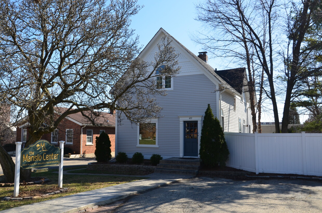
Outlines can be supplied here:
<path id="1" fill-rule="evenodd" d="M 144 166 L 144 165 L 127 165 L 127 164 L 87 164 L 88 170 L 104 170 L 111 173 L 124 173 L 127 171 L 131 175 L 140 175 L 143 172 L 152 173 L 156 166 Z"/>

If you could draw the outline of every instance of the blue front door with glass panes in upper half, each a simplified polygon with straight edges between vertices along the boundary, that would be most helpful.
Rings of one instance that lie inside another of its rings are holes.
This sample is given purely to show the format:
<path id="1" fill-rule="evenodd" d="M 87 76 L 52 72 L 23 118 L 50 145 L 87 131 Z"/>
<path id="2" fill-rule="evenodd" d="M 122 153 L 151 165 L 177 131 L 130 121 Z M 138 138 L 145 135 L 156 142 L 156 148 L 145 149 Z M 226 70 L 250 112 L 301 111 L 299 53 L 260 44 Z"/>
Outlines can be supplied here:
<path id="1" fill-rule="evenodd" d="M 198 157 L 198 122 L 184 122 L 184 155 Z"/>

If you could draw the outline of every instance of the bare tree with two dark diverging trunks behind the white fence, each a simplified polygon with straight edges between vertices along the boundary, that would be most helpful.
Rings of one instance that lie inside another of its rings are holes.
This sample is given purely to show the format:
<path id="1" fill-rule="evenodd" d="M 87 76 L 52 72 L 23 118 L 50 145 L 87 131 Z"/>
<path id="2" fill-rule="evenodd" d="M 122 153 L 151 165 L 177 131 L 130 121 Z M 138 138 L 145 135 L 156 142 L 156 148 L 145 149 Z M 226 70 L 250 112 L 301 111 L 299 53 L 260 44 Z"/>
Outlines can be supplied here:
<path id="1" fill-rule="evenodd" d="M 308 53 L 321 44 L 321 33 L 315 28 L 320 20 L 317 18 L 319 15 L 312 15 L 320 13 L 319 6 L 318 0 L 295 3 L 275 0 L 207 0 L 204 4 L 197 5 L 198 20 L 203 21 L 205 26 L 212 30 L 210 36 L 204 35 L 204 40 L 200 43 L 212 48 L 217 56 L 244 60 L 248 66 L 247 49 L 250 48 L 247 47 L 254 48 L 255 63 L 264 70 L 265 79 L 268 81 L 269 89 L 262 89 L 272 102 L 276 133 L 280 130 L 274 85 L 275 72 L 281 70 L 278 68 L 280 64 L 285 64 L 286 69 L 282 76 L 286 82 L 282 132 L 286 133 L 289 107 L 294 98 L 294 85 L 304 76 L 312 75 L 312 72 L 301 72 L 301 68 L 307 61 Z M 285 11 L 291 11 L 291 14 L 282 14 L 281 11 L 285 8 Z M 305 38 L 309 34 L 315 36 L 314 45 L 305 45 Z M 288 39 L 283 39 L 286 36 Z M 283 42 L 287 43 L 285 48 L 281 47 Z M 305 48 L 301 48 L 304 45 Z M 287 51 L 287 59 L 279 57 L 284 50 Z M 249 81 L 251 82 L 251 79 Z"/>

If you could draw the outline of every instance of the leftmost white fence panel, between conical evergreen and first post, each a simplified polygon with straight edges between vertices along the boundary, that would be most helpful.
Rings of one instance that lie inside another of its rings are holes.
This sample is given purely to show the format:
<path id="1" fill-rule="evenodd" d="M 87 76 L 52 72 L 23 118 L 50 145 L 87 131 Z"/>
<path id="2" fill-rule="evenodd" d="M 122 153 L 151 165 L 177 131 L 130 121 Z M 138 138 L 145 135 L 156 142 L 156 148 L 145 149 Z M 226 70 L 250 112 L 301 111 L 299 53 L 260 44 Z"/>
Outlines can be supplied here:
<path id="1" fill-rule="evenodd" d="M 236 169 L 256 172 L 254 134 L 224 133 L 229 149 L 229 160 L 226 165 Z"/>

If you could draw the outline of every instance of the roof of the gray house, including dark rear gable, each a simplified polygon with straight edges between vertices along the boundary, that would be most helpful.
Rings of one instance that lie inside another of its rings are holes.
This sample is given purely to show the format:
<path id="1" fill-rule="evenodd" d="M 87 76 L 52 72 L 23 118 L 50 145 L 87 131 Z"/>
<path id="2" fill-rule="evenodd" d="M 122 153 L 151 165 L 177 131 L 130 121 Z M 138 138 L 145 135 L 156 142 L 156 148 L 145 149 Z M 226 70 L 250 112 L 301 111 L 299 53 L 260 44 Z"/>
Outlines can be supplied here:
<path id="1" fill-rule="evenodd" d="M 189 55 L 191 55 L 210 74 L 212 74 L 220 82 L 221 85 L 223 85 L 225 88 L 232 90 L 232 92 L 238 93 L 240 95 L 242 94 L 242 86 L 243 86 L 244 76 L 238 76 L 238 81 L 235 81 L 231 77 L 231 75 L 232 75 L 233 70 L 236 70 L 238 75 L 240 75 L 241 70 L 244 70 L 245 68 L 227 69 L 227 70 L 220 70 L 217 72 L 217 70 L 215 71 L 215 69 L 213 69 L 209 64 L 204 62 L 204 60 L 200 59 L 198 56 L 196 56 L 194 53 L 192 53 L 190 50 L 188 50 L 183 44 L 181 44 L 178 40 L 176 40 L 173 36 L 171 36 L 168 32 L 166 32 L 162 27 L 158 30 L 158 32 L 156 32 L 156 34 L 153 36 L 153 38 L 150 40 L 150 42 L 147 44 L 147 46 L 149 46 L 149 44 L 152 42 L 152 40 L 154 40 L 154 38 L 161 32 L 165 33 L 169 38 L 171 38 L 173 41 L 177 42 L 185 51 L 187 51 L 187 53 Z M 141 51 L 141 53 L 144 52 L 144 50 L 147 48 L 147 46 Z M 139 54 L 139 56 L 141 55 L 141 53 Z M 225 71 L 228 71 L 228 73 L 225 74 L 224 73 Z M 244 75 L 244 72 L 242 72 L 242 75 Z M 242 81 L 239 84 L 237 82 L 240 82 L 240 79 L 242 79 Z"/>

